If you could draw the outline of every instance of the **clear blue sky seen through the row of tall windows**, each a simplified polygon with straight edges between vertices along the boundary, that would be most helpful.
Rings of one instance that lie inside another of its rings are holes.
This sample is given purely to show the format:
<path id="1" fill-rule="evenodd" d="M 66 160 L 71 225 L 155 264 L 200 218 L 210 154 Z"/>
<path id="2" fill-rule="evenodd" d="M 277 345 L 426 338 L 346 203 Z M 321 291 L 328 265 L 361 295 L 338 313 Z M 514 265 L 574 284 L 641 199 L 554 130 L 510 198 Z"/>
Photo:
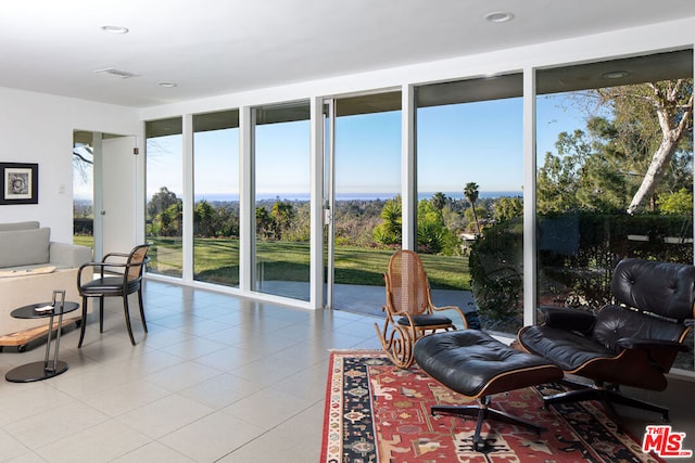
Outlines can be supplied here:
<path id="1" fill-rule="evenodd" d="M 568 110 L 563 95 L 538 99 L 538 159 L 555 151 L 560 131 L 584 128 L 585 115 Z M 520 98 L 418 110 L 419 192 L 460 193 L 476 182 L 481 193 L 521 191 L 522 100 Z M 256 128 L 256 191 L 260 197 L 308 194 L 308 121 Z M 344 116 L 336 128 L 337 193 L 400 191 L 401 113 Z M 235 194 L 239 189 L 237 129 L 197 133 L 197 196 Z M 181 137 L 148 146 L 148 197 L 167 185 L 180 194 Z M 76 195 L 79 192 L 76 187 Z"/>

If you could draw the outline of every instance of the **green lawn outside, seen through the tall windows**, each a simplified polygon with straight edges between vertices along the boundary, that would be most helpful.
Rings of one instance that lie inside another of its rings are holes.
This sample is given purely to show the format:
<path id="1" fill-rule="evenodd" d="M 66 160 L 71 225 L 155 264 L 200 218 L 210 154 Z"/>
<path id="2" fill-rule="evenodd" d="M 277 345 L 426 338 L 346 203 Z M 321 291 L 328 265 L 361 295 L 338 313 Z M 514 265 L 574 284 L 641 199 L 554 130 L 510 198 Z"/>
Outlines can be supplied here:
<path id="1" fill-rule="evenodd" d="M 157 273 L 181 274 L 181 241 L 151 240 L 151 267 Z M 91 246 L 91 236 L 75 236 L 76 244 Z M 197 280 L 225 285 L 239 284 L 239 241 L 195 239 L 194 268 Z M 258 271 L 264 280 L 308 281 L 309 245 L 296 242 L 256 243 Z M 336 283 L 382 286 L 392 249 L 357 246 L 336 248 Z M 421 254 L 432 288 L 470 290 L 468 258 Z"/>

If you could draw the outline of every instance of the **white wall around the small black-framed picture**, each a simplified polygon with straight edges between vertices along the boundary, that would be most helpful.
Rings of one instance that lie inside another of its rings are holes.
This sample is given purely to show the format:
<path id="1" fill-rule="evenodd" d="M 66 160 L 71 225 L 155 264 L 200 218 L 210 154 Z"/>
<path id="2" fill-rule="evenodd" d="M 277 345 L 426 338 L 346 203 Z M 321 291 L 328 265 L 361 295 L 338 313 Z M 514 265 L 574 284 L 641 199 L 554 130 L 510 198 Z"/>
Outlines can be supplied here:
<path id="1" fill-rule="evenodd" d="M 38 220 L 72 243 L 74 129 L 140 136 L 141 123 L 135 108 L 0 88 L 0 162 L 39 165 L 39 204 L 0 206 L 0 222 Z"/>

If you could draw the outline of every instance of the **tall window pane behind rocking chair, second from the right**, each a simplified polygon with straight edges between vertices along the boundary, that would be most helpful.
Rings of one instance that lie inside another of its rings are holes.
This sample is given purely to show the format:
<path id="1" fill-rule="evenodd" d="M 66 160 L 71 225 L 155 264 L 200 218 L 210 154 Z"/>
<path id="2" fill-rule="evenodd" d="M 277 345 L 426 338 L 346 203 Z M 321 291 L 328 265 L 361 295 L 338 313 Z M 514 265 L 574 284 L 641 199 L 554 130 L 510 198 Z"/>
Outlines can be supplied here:
<path id="1" fill-rule="evenodd" d="M 522 76 L 420 86 L 417 240 L 435 305 L 516 333 L 523 320 Z"/>

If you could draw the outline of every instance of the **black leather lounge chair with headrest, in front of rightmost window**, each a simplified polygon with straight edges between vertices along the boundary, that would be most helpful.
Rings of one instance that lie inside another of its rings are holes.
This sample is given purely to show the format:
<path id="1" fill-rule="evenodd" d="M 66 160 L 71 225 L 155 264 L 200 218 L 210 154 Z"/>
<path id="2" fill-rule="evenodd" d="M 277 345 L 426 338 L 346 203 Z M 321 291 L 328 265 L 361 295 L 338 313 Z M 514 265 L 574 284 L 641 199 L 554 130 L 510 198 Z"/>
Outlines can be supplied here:
<path id="1" fill-rule="evenodd" d="M 589 378 L 587 385 L 566 380 L 574 390 L 544 397 L 545 404 L 598 400 L 620 426 L 614 403 L 661 413 L 655 403 L 623 396 L 620 386 L 664 390 L 666 374 L 691 330 L 695 309 L 695 267 L 685 263 L 624 259 L 610 282 L 614 300 L 596 313 L 546 308 L 545 323 L 517 335 L 528 352 L 544 357 L 566 375 Z"/>

